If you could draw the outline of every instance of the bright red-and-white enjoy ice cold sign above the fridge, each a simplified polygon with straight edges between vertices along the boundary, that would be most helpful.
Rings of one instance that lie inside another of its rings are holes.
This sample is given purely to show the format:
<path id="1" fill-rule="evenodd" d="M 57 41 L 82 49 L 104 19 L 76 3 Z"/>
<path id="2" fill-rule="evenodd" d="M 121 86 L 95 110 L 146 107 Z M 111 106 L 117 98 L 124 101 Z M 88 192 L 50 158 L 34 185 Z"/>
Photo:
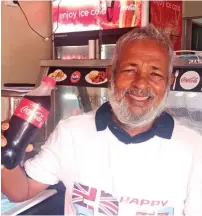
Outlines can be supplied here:
<path id="1" fill-rule="evenodd" d="M 141 5 L 140 0 L 56 0 L 52 2 L 53 31 L 139 27 Z"/>

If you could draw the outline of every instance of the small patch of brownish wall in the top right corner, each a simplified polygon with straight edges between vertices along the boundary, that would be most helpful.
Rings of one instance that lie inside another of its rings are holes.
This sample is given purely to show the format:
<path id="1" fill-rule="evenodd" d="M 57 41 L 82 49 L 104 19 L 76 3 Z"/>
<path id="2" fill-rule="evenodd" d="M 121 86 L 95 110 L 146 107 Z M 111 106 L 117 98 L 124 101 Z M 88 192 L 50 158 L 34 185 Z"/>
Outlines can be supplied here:
<path id="1" fill-rule="evenodd" d="M 202 1 L 183 1 L 183 17 L 202 17 Z"/>

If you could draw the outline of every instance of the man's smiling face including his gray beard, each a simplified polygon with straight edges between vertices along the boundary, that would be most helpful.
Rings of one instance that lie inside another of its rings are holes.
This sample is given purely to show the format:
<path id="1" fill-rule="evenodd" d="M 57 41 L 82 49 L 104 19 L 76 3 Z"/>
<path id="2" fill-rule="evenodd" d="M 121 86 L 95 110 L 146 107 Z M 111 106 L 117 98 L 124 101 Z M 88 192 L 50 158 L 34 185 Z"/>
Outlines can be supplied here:
<path id="1" fill-rule="evenodd" d="M 110 103 L 119 120 L 129 118 L 129 124 L 139 121 L 141 125 L 141 120 L 155 118 L 162 112 L 164 104 L 162 107 L 161 103 L 165 102 L 169 88 L 168 68 L 168 50 L 157 41 L 137 40 L 123 47 L 113 89 L 109 92 Z"/>

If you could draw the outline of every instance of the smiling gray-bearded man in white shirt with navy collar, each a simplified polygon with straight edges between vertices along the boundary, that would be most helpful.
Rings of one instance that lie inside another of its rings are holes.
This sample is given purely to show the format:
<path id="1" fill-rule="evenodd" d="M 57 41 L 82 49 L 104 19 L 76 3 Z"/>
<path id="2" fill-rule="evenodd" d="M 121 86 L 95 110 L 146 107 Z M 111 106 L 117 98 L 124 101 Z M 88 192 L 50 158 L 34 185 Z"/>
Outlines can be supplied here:
<path id="1" fill-rule="evenodd" d="M 151 25 L 121 37 L 109 103 L 62 120 L 26 174 L 4 168 L 3 193 L 22 201 L 62 181 L 68 216 L 201 216 L 202 137 L 163 112 L 172 58 Z"/>

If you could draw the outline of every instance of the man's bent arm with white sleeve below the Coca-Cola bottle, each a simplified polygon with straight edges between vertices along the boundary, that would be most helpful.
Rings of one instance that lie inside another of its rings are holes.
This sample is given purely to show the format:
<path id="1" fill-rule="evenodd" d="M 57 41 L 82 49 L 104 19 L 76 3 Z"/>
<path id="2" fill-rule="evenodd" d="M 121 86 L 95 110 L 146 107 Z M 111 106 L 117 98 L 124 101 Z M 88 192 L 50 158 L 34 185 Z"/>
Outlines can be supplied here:
<path id="1" fill-rule="evenodd" d="M 25 170 L 19 166 L 1 170 L 2 192 L 9 200 L 22 202 L 56 184 L 60 180 L 60 155 L 60 129 L 57 126 L 42 150 L 25 162 Z"/>

